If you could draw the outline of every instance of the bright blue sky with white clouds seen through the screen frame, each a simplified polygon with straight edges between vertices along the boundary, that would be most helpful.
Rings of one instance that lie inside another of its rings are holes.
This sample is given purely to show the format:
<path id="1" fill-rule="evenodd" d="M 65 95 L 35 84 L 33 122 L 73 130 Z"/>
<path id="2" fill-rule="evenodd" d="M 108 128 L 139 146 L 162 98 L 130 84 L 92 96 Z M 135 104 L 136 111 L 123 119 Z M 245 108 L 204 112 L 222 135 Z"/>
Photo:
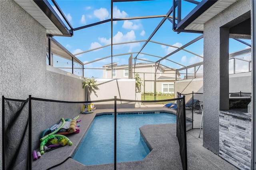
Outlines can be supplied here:
<path id="1" fill-rule="evenodd" d="M 50 2 L 50 1 L 48 1 Z M 110 19 L 110 0 L 56 0 L 66 18 L 73 28 L 85 26 L 95 22 Z M 52 4 L 53 5 L 53 4 Z M 156 16 L 165 15 L 172 6 L 171 0 L 154 0 L 154 1 L 140 1 L 140 2 L 115 2 L 113 4 L 113 18 L 127 18 L 137 16 Z M 182 1 L 182 18 L 190 12 L 196 5 Z M 172 14 L 171 14 L 172 15 Z M 137 20 L 122 20 L 113 22 L 113 43 L 131 42 L 139 40 L 147 40 L 150 34 L 154 31 L 156 26 L 160 23 L 162 18 L 148 18 Z M 160 27 L 158 32 L 152 37 L 152 41 L 160 42 L 176 47 L 181 47 L 190 42 L 201 34 L 180 33 L 172 31 L 172 23 L 168 20 Z M 77 30 L 73 37 L 54 37 L 60 42 L 68 51 L 77 54 L 83 51 L 108 45 L 111 43 L 111 23 L 100 24 Z M 246 48 L 246 45 L 231 41 L 235 45 L 230 45 L 230 51 L 234 52 Z M 138 52 L 142 48 L 144 42 L 128 43 L 122 45 L 113 45 L 113 55 L 122 53 Z M 238 44 L 238 45 L 237 45 Z M 168 53 L 174 51 L 176 48 L 161 45 L 158 43 L 149 42 L 142 50 L 142 53 L 157 55 L 164 57 Z M 203 56 L 203 39 L 186 47 L 187 50 Z M 107 57 L 111 55 L 111 46 L 100 48 L 87 53 L 76 55 L 83 63 L 88 63 L 96 59 Z M 133 54 L 135 57 L 136 54 Z M 118 65 L 128 64 L 130 55 L 122 55 L 113 57 L 113 62 L 118 62 Z M 157 61 L 160 58 L 152 57 L 150 55 L 140 54 L 138 59 Z M 192 53 L 186 51 L 179 51 L 168 59 L 180 63 L 181 65 L 191 65 L 198 63 L 203 59 Z M 137 60 L 136 63 L 146 62 Z M 60 63 L 60 62 L 59 62 Z M 86 68 L 102 68 L 102 65 L 111 63 L 111 57 L 102 59 L 100 61 L 86 64 Z M 181 68 L 181 65 L 163 60 L 160 63 L 168 67 Z M 85 77 L 101 77 L 102 70 L 85 70 Z"/>

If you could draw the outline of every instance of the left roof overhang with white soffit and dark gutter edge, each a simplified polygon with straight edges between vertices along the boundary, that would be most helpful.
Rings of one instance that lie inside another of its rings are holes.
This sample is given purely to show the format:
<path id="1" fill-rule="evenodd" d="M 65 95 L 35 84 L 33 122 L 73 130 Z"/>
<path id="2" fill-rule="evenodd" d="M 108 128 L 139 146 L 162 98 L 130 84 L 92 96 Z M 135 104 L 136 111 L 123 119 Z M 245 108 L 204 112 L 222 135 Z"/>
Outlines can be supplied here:
<path id="1" fill-rule="evenodd" d="M 73 36 L 47 0 L 14 0 L 44 28 L 48 36 Z"/>

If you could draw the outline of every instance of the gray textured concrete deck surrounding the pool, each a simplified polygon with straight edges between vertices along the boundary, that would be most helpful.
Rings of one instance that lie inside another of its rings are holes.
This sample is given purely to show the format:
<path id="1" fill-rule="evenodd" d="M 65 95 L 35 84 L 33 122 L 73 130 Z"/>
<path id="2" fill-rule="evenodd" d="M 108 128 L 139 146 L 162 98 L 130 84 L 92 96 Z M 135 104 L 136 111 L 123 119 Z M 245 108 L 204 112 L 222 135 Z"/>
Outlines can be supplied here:
<path id="1" fill-rule="evenodd" d="M 191 110 L 191 109 L 190 109 Z M 118 112 L 127 111 L 173 111 L 159 105 L 142 105 L 134 109 L 118 109 Z M 188 110 L 189 111 L 189 110 Z M 113 113 L 114 109 L 96 109 L 91 114 L 80 114 L 79 119 L 80 133 L 70 134 L 67 137 L 73 142 L 72 146 L 64 146 L 50 152 L 45 152 L 41 158 L 32 161 L 33 170 L 48 169 L 52 166 L 63 164 L 52 168 L 53 170 L 113 170 L 114 164 L 101 164 L 93 166 L 84 166 L 69 156 L 73 156 L 78 148 L 86 131 L 90 127 L 97 113 Z M 200 126 L 201 115 L 194 114 L 194 127 Z M 195 127 L 196 128 L 196 127 Z M 182 170 L 182 164 L 179 154 L 179 144 L 176 137 L 176 124 L 144 125 L 140 131 L 152 147 L 152 151 L 141 161 L 117 163 L 118 170 Z M 236 170 L 234 166 L 204 148 L 203 132 L 198 138 L 199 130 L 190 130 L 187 132 L 187 153 L 189 170 Z M 38 151 L 38 150 L 37 150 Z M 99 158 L 100 159 L 100 158 Z"/>

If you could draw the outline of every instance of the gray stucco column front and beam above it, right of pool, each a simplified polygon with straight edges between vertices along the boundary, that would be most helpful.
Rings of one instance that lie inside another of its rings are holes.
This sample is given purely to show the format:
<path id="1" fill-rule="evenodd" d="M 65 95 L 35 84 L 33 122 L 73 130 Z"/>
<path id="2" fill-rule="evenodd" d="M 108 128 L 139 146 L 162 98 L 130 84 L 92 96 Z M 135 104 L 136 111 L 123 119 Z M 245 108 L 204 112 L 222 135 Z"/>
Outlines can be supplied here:
<path id="1" fill-rule="evenodd" d="M 249 0 L 239 0 L 204 24 L 204 142 L 219 153 L 220 27 L 250 11 Z"/>

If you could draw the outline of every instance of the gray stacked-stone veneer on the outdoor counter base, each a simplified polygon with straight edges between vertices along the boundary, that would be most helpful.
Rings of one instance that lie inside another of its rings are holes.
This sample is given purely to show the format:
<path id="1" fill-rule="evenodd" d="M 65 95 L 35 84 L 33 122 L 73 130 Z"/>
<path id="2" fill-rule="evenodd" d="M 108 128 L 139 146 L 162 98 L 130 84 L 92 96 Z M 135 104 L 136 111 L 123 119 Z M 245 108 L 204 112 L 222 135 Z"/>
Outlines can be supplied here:
<path id="1" fill-rule="evenodd" d="M 241 170 L 250 170 L 252 158 L 251 116 L 220 111 L 219 122 L 219 156 Z"/>

